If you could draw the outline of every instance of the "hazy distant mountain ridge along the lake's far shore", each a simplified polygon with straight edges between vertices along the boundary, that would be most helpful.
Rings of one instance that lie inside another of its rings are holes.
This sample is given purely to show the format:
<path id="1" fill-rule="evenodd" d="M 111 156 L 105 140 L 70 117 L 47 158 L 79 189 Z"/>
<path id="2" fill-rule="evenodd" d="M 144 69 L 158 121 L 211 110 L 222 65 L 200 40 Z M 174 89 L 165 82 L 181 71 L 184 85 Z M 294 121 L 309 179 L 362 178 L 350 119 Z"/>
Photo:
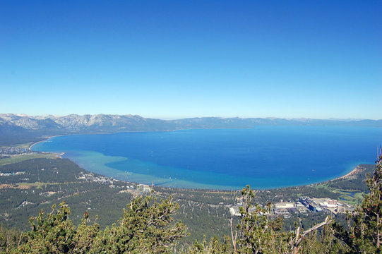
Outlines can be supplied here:
<path id="1" fill-rule="evenodd" d="M 202 117 L 178 120 L 148 119 L 138 115 L 28 116 L 0 114 L 0 145 L 38 140 L 46 135 L 117 133 L 126 131 L 174 131 L 191 128 L 255 128 L 256 126 L 371 126 L 382 120 L 278 119 Z"/>

